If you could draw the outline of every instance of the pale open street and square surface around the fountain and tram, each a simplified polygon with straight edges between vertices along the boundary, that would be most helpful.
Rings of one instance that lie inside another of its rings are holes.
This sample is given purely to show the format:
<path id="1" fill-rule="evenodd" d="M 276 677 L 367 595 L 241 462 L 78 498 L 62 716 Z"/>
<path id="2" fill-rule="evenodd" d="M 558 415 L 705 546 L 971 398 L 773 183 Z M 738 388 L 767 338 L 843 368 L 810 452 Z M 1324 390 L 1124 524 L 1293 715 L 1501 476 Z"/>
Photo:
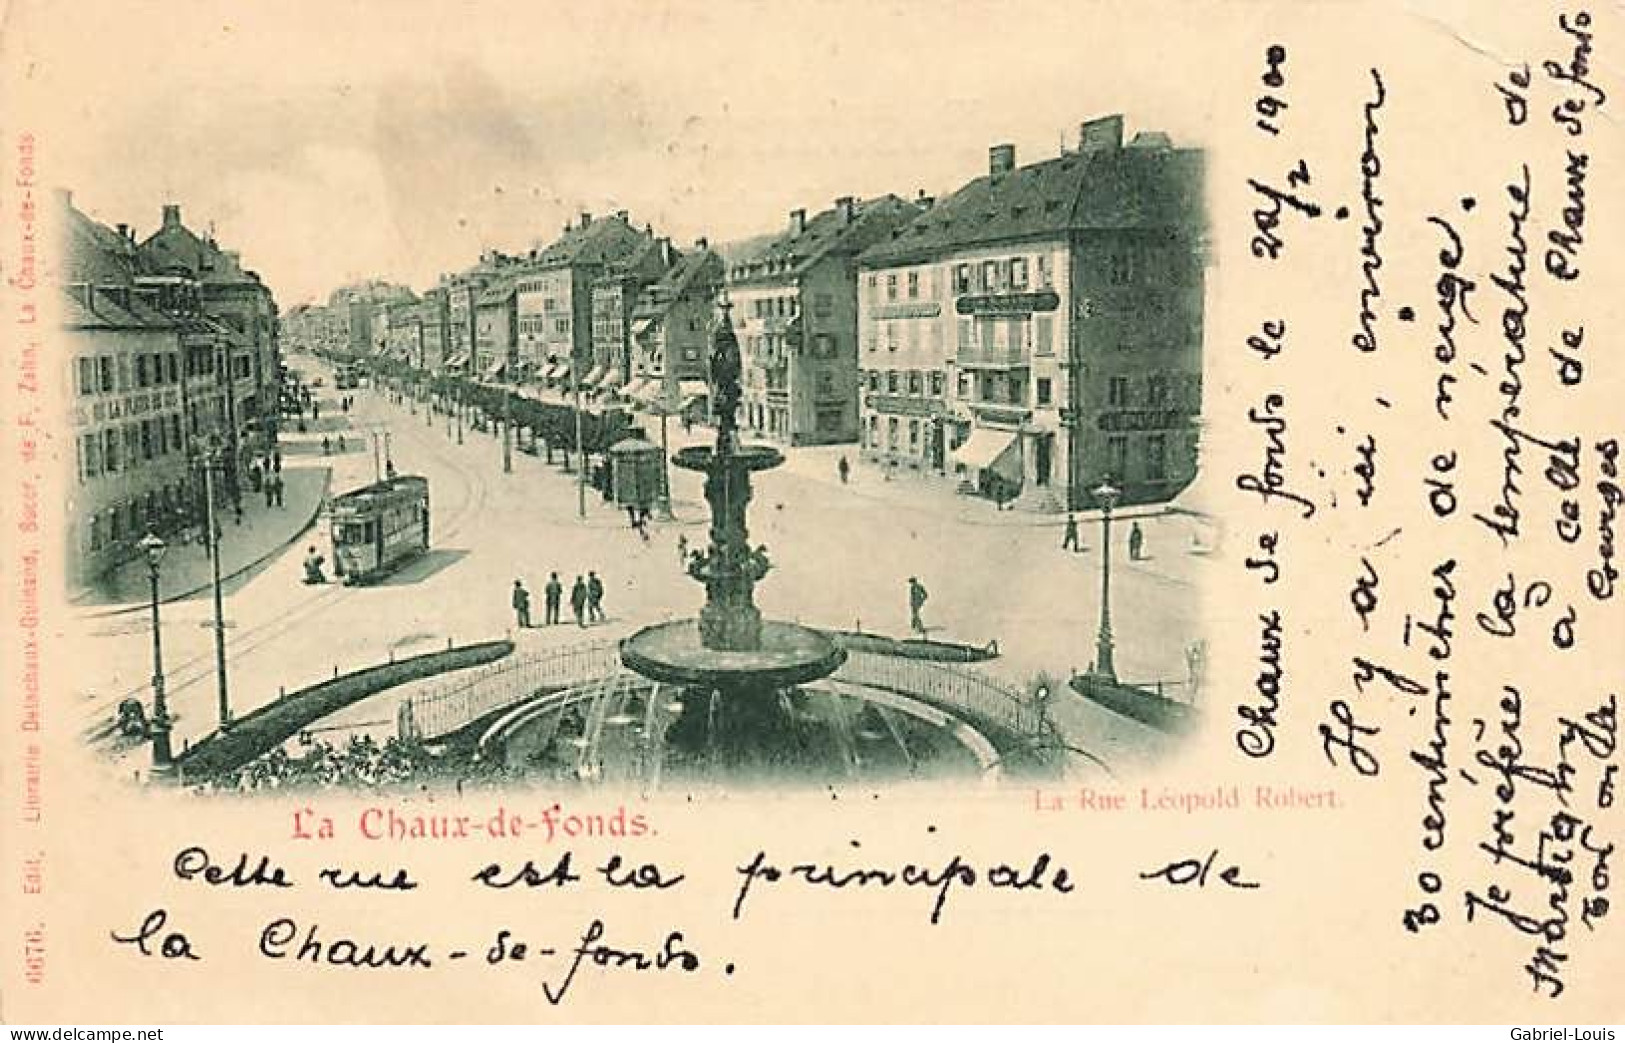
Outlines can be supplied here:
<path id="1" fill-rule="evenodd" d="M 317 364 L 299 359 L 307 374 Z M 327 382 L 322 413 L 338 418 L 336 392 Z M 370 388 L 354 392 L 356 408 L 325 434 L 344 434 L 346 453 L 320 458 L 320 437 L 284 448 L 291 460 L 317 458 L 333 470 L 341 492 L 372 479 L 372 434 L 388 432 L 401 474 L 431 484 L 432 549 L 390 580 L 366 588 L 301 583 L 307 543 L 328 552 L 325 525 L 288 546 L 263 567 L 228 586 L 228 655 L 236 713 L 289 690 L 395 656 L 448 642 L 466 643 L 512 632 L 509 588 L 522 578 L 541 617 L 541 586 L 557 570 L 566 588 L 577 573 L 598 570 L 606 585 L 608 622 L 582 630 L 574 624 L 525 630 L 525 645 L 570 643 L 590 635 L 613 640 L 648 622 L 687 616 L 704 591 L 682 575 L 676 539 L 705 539 L 700 479 L 673 470 L 678 520 L 652 523 L 642 541 L 626 513 L 588 489 L 587 518 L 577 517 L 574 474 L 540 457 L 514 453 L 502 473 L 502 444 L 465 429 L 463 444 L 447 434 L 444 416 L 426 424 L 422 408 L 393 405 Z M 658 421 L 648 421 L 658 442 Z M 671 424 L 671 447 L 687 439 Z M 299 440 L 301 435 L 291 435 Z M 985 643 L 996 638 L 1003 658 L 986 671 L 1025 684 L 1040 671 L 1064 677 L 1094 658 L 1100 591 L 1098 523 L 1084 520 L 1084 552 L 1060 549 L 1060 517 L 994 512 L 949 489 L 921 489 L 866 466 L 842 486 L 835 460 L 843 448 L 796 448 L 788 463 L 756 479 L 752 541 L 765 543 L 774 570 L 757 588 L 774 617 L 812 625 L 863 627 L 905 635 L 907 580 L 930 590 L 925 608 L 931 635 Z M 1199 635 L 1198 585 L 1206 559 L 1190 554 L 1191 523 L 1180 517 L 1141 520 L 1147 560 L 1128 562 L 1128 523 L 1113 525 L 1113 629 L 1116 668 L 1124 679 L 1185 679 L 1185 650 Z M 228 539 L 231 534 L 228 533 Z M 566 609 L 567 611 L 567 609 Z M 164 606 L 164 656 L 177 749 L 213 729 L 216 684 L 210 601 L 190 598 Z M 996 621 L 996 622 L 994 622 Z M 78 684 L 83 725 L 104 723 L 119 699 L 148 699 L 151 643 L 140 612 L 86 619 L 98 655 L 83 664 Z M 1123 754 L 1146 752 L 1155 736 L 1133 723 L 1063 695 L 1056 718 L 1074 744 Z M 135 752 L 135 751 L 132 751 Z M 1108 757 L 1110 759 L 1110 757 Z M 130 757 L 125 770 L 143 767 Z"/>

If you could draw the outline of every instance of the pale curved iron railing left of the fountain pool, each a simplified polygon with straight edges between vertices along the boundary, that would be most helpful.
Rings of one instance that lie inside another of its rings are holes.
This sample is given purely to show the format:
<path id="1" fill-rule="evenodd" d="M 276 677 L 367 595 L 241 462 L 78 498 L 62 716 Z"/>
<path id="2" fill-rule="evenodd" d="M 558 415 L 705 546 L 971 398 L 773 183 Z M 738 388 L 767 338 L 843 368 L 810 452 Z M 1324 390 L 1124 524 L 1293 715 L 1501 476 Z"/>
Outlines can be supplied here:
<path id="1" fill-rule="evenodd" d="M 439 739 L 536 692 L 574 687 L 621 673 L 613 642 L 515 653 L 406 700 L 400 715 L 413 738 Z"/>

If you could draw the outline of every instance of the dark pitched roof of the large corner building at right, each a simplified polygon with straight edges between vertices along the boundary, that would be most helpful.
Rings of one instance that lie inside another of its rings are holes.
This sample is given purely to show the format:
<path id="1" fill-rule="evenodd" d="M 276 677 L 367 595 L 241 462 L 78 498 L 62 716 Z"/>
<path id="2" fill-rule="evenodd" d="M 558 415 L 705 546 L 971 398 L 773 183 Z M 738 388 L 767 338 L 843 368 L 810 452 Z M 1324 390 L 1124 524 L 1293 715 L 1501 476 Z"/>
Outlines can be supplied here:
<path id="1" fill-rule="evenodd" d="M 860 263 L 902 263 L 970 245 L 1069 232 L 1199 227 L 1202 153 L 1167 148 L 1165 141 L 1141 135 L 1126 148 L 1068 153 L 977 177 L 869 247 Z"/>

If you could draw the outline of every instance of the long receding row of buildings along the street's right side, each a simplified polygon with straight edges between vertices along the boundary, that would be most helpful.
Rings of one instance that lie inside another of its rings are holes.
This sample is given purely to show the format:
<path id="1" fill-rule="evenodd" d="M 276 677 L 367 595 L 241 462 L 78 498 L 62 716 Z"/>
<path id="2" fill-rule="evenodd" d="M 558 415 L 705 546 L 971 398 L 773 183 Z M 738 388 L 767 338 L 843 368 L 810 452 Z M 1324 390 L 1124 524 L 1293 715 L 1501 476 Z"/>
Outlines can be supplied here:
<path id="1" fill-rule="evenodd" d="M 421 296 L 367 283 L 296 309 L 307 346 L 429 372 L 583 390 L 598 403 L 704 401 L 720 301 L 744 354 L 744 416 L 786 445 L 1060 510 L 1110 476 L 1128 502 L 1196 471 L 1202 153 L 1120 115 L 1076 145 L 941 200 L 840 198 L 778 231 L 678 250 L 627 214 L 580 214 L 523 257 L 486 253 Z M 297 330 L 297 333 L 294 331 Z"/>

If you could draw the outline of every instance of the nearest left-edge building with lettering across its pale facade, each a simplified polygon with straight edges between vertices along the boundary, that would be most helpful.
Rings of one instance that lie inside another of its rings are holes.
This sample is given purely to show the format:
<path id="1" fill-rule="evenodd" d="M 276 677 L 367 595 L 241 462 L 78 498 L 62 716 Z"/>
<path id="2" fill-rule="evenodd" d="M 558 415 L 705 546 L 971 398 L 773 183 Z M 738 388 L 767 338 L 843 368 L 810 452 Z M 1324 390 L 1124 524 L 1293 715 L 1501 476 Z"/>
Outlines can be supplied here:
<path id="1" fill-rule="evenodd" d="M 62 193 L 63 331 L 75 444 L 68 559 L 76 582 L 171 536 L 202 509 L 195 450 L 226 444 L 242 403 L 247 338 L 205 312 L 190 275 L 150 275 L 128 226 L 117 231 Z M 236 405 L 234 405 L 236 403 Z M 229 492 L 218 487 L 224 500 Z"/>

